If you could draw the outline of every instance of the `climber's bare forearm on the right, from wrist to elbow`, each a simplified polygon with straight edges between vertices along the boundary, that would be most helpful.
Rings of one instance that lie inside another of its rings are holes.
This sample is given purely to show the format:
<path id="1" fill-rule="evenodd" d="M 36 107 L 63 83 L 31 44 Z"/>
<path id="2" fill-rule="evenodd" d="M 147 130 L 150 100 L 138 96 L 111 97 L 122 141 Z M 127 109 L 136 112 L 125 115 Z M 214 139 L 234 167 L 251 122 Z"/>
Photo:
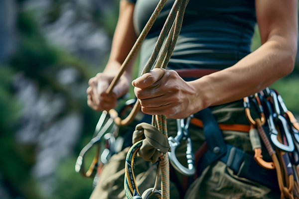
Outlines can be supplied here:
<path id="1" fill-rule="evenodd" d="M 276 36 L 234 66 L 192 82 L 201 96 L 200 110 L 210 105 L 240 100 L 270 86 L 294 68 L 296 46 Z"/>

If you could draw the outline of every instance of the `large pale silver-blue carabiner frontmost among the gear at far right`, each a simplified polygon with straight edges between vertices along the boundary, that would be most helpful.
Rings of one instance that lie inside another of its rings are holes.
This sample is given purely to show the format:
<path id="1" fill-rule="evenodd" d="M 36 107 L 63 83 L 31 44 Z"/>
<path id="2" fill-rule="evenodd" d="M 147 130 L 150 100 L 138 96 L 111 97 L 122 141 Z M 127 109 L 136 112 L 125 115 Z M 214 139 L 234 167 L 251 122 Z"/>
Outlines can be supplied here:
<path id="1" fill-rule="evenodd" d="M 269 118 L 270 119 L 270 118 Z M 281 127 L 281 132 L 284 133 L 286 135 L 286 138 L 287 138 L 287 142 L 288 142 L 288 145 L 284 145 L 282 143 L 280 143 L 277 139 L 277 136 L 278 136 L 278 131 L 275 129 L 275 131 L 273 130 L 273 128 L 275 128 L 275 126 L 272 126 L 271 130 L 271 140 L 273 142 L 273 144 L 275 146 L 277 146 L 278 148 L 280 148 L 281 150 L 284 150 L 284 151 L 287 151 L 287 152 L 292 152 L 294 151 L 295 149 L 295 146 L 294 146 L 294 142 L 293 142 L 293 139 L 292 139 L 292 136 L 291 136 L 291 133 L 288 129 L 288 123 L 287 123 L 287 120 L 285 117 L 283 117 L 282 115 L 278 115 L 277 116 L 277 123 L 278 123 L 278 126 Z M 272 124 L 271 125 L 274 125 L 273 124 L 273 121 L 272 121 Z"/>

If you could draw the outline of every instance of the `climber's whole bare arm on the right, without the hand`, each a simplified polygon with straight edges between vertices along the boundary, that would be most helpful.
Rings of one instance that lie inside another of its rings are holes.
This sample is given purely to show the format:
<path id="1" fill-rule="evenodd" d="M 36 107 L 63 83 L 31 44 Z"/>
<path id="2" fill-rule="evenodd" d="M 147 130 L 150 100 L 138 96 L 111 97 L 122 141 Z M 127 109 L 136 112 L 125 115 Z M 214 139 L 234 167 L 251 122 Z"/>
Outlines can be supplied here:
<path id="1" fill-rule="evenodd" d="M 298 37 L 297 9 L 297 0 L 256 0 L 262 46 L 234 66 L 197 82 L 201 85 L 197 89 L 205 95 L 205 106 L 242 99 L 293 71 Z"/>

